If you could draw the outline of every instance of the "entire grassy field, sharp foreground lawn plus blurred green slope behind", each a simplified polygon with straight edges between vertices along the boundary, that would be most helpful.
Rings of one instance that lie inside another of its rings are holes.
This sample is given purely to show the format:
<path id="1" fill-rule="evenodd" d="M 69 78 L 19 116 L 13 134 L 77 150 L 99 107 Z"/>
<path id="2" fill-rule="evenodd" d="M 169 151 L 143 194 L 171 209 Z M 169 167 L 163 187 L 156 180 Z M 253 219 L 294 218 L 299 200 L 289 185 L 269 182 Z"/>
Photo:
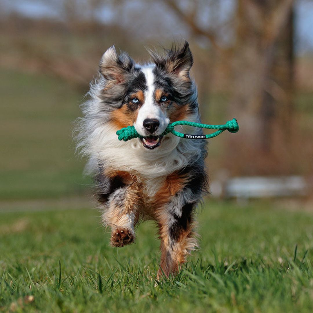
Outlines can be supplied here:
<path id="1" fill-rule="evenodd" d="M 208 200 L 201 249 L 161 282 L 153 223 L 140 225 L 136 244 L 111 248 L 74 156 L 81 94 L 46 76 L 0 71 L 0 311 L 313 310 L 313 212 L 300 206 Z M 216 109 L 207 113 L 224 120 Z"/>

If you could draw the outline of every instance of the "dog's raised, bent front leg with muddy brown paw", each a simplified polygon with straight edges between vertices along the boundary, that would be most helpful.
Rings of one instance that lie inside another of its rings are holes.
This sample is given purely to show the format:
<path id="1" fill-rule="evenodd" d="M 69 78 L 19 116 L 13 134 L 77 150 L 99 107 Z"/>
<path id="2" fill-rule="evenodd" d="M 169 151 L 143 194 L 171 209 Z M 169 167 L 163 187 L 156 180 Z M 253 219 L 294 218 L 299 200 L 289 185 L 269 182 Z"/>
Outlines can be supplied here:
<path id="1" fill-rule="evenodd" d="M 141 197 L 135 184 L 116 189 L 108 198 L 102 221 L 110 226 L 110 243 L 114 247 L 131 244 L 135 239 Z"/>

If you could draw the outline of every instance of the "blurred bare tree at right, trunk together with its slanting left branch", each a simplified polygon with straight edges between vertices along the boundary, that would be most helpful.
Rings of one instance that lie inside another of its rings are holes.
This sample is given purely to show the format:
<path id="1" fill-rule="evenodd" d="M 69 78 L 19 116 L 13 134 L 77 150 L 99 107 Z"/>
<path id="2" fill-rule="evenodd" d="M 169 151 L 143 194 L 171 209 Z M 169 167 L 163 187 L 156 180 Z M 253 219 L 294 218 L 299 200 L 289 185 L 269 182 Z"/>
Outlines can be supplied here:
<path id="1" fill-rule="evenodd" d="M 198 24 L 194 12 L 203 10 L 203 5 L 209 5 L 210 1 L 206 4 L 194 1 L 192 13 L 176 0 L 164 2 L 195 36 L 207 38 L 215 54 L 230 66 L 229 112 L 230 116 L 238 116 L 241 127 L 236 136 L 238 153 L 242 154 L 240 150 L 244 148 L 246 155 L 270 157 L 273 123 L 278 122 L 284 128 L 291 122 L 293 0 L 238 0 L 234 15 L 235 40 L 230 46 L 220 44 L 218 25 L 203 28 Z M 254 170 L 262 171 L 262 166 L 255 165 Z"/>

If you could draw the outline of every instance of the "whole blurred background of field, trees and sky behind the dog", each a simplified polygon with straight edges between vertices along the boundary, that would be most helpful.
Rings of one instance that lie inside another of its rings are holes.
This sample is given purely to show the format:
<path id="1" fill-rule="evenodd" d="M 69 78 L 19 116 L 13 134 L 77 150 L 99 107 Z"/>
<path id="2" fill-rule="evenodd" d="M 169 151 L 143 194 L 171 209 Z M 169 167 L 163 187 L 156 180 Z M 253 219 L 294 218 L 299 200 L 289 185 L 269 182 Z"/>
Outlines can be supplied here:
<path id="1" fill-rule="evenodd" d="M 213 195 L 309 199 L 312 28 L 309 0 L 2 0 L 2 203 L 88 198 L 72 130 L 101 55 L 115 44 L 140 62 L 185 39 L 202 121 L 240 125 L 210 141 Z"/>

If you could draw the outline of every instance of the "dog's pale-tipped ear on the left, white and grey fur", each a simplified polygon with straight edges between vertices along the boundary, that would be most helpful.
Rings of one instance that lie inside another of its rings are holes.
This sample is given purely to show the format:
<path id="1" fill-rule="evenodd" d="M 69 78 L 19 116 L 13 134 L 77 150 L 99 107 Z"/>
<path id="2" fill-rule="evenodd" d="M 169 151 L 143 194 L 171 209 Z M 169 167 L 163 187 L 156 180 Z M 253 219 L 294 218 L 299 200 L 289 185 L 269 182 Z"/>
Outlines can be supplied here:
<path id="1" fill-rule="evenodd" d="M 132 71 L 134 66 L 135 61 L 126 52 L 118 55 L 115 47 L 112 46 L 103 54 L 99 70 L 106 80 L 120 84 L 125 81 L 126 75 Z"/>

